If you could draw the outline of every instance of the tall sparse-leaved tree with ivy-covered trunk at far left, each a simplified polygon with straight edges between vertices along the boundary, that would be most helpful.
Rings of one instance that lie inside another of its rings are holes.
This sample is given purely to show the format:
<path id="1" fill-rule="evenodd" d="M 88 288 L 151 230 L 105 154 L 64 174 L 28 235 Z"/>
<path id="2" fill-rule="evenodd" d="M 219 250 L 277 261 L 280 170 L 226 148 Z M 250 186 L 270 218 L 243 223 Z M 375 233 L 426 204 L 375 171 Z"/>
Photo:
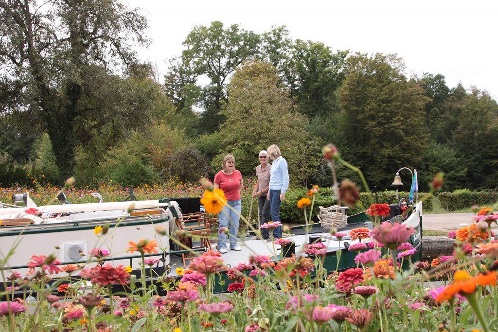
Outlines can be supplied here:
<path id="1" fill-rule="evenodd" d="M 96 67 L 112 73 L 136 62 L 147 20 L 116 0 L 0 2 L 0 71 L 21 87 L 24 108 L 36 111 L 50 136 L 62 177 L 73 174 L 75 120 Z"/>

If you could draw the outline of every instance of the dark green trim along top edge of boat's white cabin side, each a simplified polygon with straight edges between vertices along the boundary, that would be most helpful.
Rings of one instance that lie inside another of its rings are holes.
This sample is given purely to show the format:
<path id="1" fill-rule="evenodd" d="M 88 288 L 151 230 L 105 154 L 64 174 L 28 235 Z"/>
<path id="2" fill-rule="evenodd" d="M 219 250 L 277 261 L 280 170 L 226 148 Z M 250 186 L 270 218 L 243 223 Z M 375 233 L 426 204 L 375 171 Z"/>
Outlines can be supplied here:
<path id="1" fill-rule="evenodd" d="M 136 218 L 136 217 L 131 217 L 131 218 Z M 166 216 L 163 218 L 158 218 L 158 219 L 152 219 L 152 220 L 144 219 L 143 221 L 126 221 L 126 219 L 124 219 L 123 221 L 118 222 L 118 221 L 116 221 L 116 219 L 113 219 L 113 220 L 114 220 L 114 222 L 109 223 L 109 228 L 115 227 L 116 225 L 118 227 L 126 227 L 126 226 L 144 225 L 144 224 L 149 224 L 149 223 L 156 224 L 156 223 L 168 221 L 169 216 Z M 75 221 L 75 222 L 68 221 L 67 223 L 71 225 L 69 227 L 53 227 L 53 228 L 51 227 L 51 228 L 47 228 L 47 229 L 29 229 L 29 226 L 26 226 L 26 228 L 21 229 L 21 230 L 17 230 L 17 231 L 2 231 L 0 233 L 0 237 L 1 236 L 17 236 L 20 234 L 27 235 L 27 234 L 40 234 L 40 233 L 57 233 L 57 232 L 61 232 L 61 231 L 94 229 L 95 224 L 85 225 L 85 223 L 96 222 L 96 221 L 102 221 L 104 223 L 104 222 L 109 222 L 109 219 L 99 219 L 99 220 L 91 220 L 91 221 Z M 56 224 L 62 224 L 62 222 L 61 223 L 52 223 L 52 224 L 48 223 L 47 226 L 48 225 L 56 225 Z M 11 227 L 18 227 L 18 226 L 11 226 Z"/>

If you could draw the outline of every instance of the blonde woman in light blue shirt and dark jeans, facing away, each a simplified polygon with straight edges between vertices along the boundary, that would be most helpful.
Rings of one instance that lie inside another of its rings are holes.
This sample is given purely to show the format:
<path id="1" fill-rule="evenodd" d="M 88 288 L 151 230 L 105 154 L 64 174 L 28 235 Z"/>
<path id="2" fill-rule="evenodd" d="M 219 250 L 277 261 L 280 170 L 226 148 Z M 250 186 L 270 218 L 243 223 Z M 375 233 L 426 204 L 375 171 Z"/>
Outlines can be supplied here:
<path id="1" fill-rule="evenodd" d="M 270 215 L 272 221 L 280 221 L 280 205 L 285 199 L 285 192 L 289 188 L 289 171 L 287 161 L 282 157 L 278 146 L 275 144 L 270 145 L 267 151 L 270 159 L 273 160 L 268 192 Z M 273 228 L 273 237 L 282 237 L 282 227 Z"/>

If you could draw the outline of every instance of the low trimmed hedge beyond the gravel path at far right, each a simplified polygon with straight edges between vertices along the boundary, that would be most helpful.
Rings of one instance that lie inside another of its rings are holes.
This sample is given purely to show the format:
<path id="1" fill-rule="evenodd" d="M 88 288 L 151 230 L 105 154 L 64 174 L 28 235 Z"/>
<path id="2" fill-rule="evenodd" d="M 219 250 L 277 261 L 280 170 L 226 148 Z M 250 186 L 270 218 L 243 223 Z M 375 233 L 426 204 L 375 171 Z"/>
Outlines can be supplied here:
<path id="1" fill-rule="evenodd" d="M 439 193 L 441 207 L 448 211 L 467 209 L 473 205 L 487 205 L 498 201 L 498 192 L 458 190 L 453 193 Z"/>

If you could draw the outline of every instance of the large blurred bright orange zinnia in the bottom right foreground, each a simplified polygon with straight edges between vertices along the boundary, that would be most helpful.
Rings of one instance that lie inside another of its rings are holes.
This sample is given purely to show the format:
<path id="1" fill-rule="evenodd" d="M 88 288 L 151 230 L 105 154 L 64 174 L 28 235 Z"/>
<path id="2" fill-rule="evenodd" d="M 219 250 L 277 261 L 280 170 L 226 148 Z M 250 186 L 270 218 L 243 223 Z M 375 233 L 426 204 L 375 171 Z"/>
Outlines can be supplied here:
<path id="1" fill-rule="evenodd" d="M 443 302 L 444 300 L 451 300 L 457 294 L 467 297 L 476 291 L 478 285 L 496 286 L 496 284 L 497 273 L 495 271 L 488 274 L 480 274 L 472 278 L 467 271 L 460 270 L 455 272 L 455 282 L 446 286 L 441 294 L 438 295 L 436 301 Z"/>

